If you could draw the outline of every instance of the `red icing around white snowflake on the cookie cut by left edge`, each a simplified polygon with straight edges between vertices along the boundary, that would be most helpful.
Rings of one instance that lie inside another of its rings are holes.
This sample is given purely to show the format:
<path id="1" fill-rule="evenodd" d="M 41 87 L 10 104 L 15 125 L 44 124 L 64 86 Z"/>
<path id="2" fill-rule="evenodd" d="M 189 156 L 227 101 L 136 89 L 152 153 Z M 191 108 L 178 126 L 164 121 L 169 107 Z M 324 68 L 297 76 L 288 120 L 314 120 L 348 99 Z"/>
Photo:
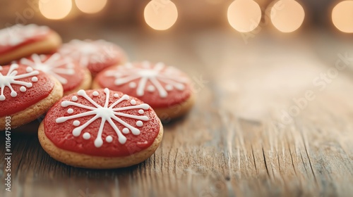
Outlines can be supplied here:
<path id="1" fill-rule="evenodd" d="M 10 68 L 10 65 L 2 66 L 2 70 L 0 70 L 2 75 L 7 75 L 7 72 Z M 27 66 L 19 65 L 17 75 L 28 73 L 26 72 Z M 39 75 L 35 75 L 38 78 L 37 82 L 32 82 L 33 86 L 28 87 L 27 91 L 20 91 L 21 85 L 11 84 L 13 90 L 17 92 L 16 97 L 11 96 L 11 90 L 8 87 L 4 88 L 4 96 L 6 99 L 4 101 L 0 101 L 0 117 L 4 117 L 6 115 L 12 115 L 14 113 L 18 113 L 22 110 L 25 110 L 29 106 L 42 101 L 42 99 L 46 98 L 54 87 L 54 82 L 50 80 L 50 78 L 45 75 L 43 72 L 40 72 Z M 31 82 L 32 77 L 26 77 L 23 79 L 19 79 L 18 81 L 22 82 Z M 1 87 L 0 87 L 1 89 Z M 2 89 L 1 89 L 2 90 Z"/>

